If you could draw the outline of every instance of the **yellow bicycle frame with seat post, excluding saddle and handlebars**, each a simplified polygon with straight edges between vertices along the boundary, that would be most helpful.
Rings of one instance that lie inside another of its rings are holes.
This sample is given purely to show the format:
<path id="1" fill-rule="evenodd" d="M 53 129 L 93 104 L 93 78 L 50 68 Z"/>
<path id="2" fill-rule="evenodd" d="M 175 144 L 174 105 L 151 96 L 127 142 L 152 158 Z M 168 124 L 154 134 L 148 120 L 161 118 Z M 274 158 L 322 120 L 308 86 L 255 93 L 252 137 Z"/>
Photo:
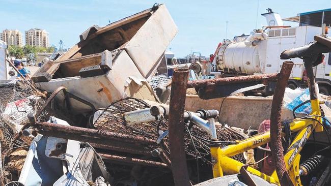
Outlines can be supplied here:
<path id="1" fill-rule="evenodd" d="M 321 115 L 319 104 L 320 102 L 317 99 L 317 94 L 315 90 L 315 80 L 313 75 L 313 69 L 311 64 L 305 64 L 307 74 L 308 74 L 308 86 L 310 90 L 310 102 L 312 107 L 311 117 L 322 122 L 321 117 L 313 115 Z M 287 171 L 290 175 L 292 182 L 295 185 L 301 185 L 300 176 L 299 176 L 299 162 L 300 162 L 300 151 L 304 147 L 305 143 L 309 139 L 312 132 L 322 132 L 323 128 L 318 123 L 318 121 L 312 119 L 294 119 L 290 122 L 291 133 L 297 132 L 294 140 L 291 142 L 288 150 L 284 154 L 285 164 Z M 285 134 L 282 133 L 282 136 Z M 236 154 L 242 153 L 249 149 L 256 148 L 258 146 L 264 145 L 270 142 L 270 132 L 265 132 L 262 134 L 257 134 L 250 138 L 247 138 L 242 141 L 238 141 L 237 144 L 228 145 L 226 147 L 220 148 L 219 146 L 210 147 L 210 152 L 212 156 L 212 169 L 213 176 L 219 177 L 224 174 L 236 174 L 240 173 L 240 168 L 244 166 L 243 163 L 238 162 L 230 157 L 235 156 Z M 252 167 L 247 167 L 248 172 L 255 174 L 270 183 L 280 184 L 276 171 L 269 176 L 266 175 Z"/>

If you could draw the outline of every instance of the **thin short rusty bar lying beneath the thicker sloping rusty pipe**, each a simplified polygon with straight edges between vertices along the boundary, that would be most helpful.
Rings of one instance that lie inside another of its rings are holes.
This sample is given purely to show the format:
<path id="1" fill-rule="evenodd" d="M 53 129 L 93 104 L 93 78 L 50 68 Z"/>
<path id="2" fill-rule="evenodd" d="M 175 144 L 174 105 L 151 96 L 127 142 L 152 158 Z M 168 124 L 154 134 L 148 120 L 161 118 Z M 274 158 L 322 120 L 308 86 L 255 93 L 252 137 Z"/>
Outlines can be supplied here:
<path id="1" fill-rule="evenodd" d="M 160 168 L 169 168 L 167 164 L 164 164 L 161 162 L 154 162 L 154 161 L 142 160 L 142 159 L 136 159 L 136 158 L 130 158 L 130 157 L 121 157 L 121 156 L 105 154 L 105 153 L 99 153 L 99 155 L 102 159 L 105 159 L 105 160 L 112 160 L 112 161 L 125 162 L 125 163 L 134 163 L 134 164 L 160 167 Z"/>

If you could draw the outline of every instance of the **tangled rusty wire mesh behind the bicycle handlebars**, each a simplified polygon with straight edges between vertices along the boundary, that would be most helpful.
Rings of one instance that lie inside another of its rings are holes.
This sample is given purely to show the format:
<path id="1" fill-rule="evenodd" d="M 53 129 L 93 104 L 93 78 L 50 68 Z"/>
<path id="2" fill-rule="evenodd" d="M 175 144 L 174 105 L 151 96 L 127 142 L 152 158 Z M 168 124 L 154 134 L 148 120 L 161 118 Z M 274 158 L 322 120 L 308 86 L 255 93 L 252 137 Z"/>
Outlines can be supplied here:
<path id="1" fill-rule="evenodd" d="M 145 109 L 149 107 L 150 105 L 148 105 L 146 102 L 134 98 L 126 98 L 114 102 L 107 108 L 99 110 L 94 115 L 96 118 L 94 127 L 99 130 L 127 134 L 131 135 L 132 137 L 142 136 L 156 141 L 159 134 L 168 130 L 168 119 L 144 122 L 135 124 L 133 126 L 125 125 L 124 121 L 125 112 Z M 192 126 L 190 130 L 187 128 L 183 135 L 185 137 L 185 150 L 187 158 L 198 158 L 201 159 L 204 163 L 211 164 L 209 143 L 212 141 L 209 140 L 209 134 L 197 126 Z M 234 130 L 220 125 L 217 126 L 217 136 L 219 141 L 235 141 L 244 138 L 241 134 L 235 132 Z M 166 146 L 169 146 L 169 140 L 167 137 L 164 138 L 163 141 Z M 224 146 L 224 144 L 220 144 L 220 146 Z M 149 150 L 153 150 L 159 147 L 160 146 L 155 143 L 154 146 L 149 146 Z M 195 149 L 197 149 L 197 153 Z M 242 154 L 239 154 L 234 158 L 241 162 L 244 161 Z"/>

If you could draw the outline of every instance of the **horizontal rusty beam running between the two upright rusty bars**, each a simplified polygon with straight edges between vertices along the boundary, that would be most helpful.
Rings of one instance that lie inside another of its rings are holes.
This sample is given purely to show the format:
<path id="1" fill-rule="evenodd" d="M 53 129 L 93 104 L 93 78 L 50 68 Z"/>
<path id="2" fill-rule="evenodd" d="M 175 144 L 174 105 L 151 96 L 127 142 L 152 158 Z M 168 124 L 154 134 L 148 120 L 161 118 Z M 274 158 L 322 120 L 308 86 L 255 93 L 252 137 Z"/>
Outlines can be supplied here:
<path id="1" fill-rule="evenodd" d="M 261 83 L 266 84 L 267 82 L 270 81 L 277 81 L 277 78 L 278 78 L 277 74 L 263 74 L 263 75 L 204 79 L 204 80 L 189 81 L 187 83 L 187 88 L 201 88 L 207 85 L 226 85 L 226 84 L 252 82 L 252 81 L 261 81 Z"/>

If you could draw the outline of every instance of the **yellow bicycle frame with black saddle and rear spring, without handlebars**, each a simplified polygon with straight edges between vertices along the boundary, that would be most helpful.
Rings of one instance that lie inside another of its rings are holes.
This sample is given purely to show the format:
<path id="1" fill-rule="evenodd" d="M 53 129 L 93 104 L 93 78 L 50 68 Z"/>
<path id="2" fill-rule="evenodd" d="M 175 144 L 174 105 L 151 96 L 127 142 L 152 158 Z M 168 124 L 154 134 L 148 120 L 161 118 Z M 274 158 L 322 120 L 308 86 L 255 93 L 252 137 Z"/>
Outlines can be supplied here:
<path id="1" fill-rule="evenodd" d="M 321 38 L 317 37 L 315 40 L 318 39 Z M 322 40 L 324 41 L 324 44 L 331 43 L 331 40 Z M 309 102 L 311 103 L 312 109 L 311 113 L 307 116 L 294 118 L 293 120 L 287 121 L 290 133 L 296 135 L 291 140 L 289 147 L 284 150 L 284 161 L 286 165 L 286 170 L 292 184 L 294 185 L 301 185 L 300 176 L 309 174 L 309 172 L 312 171 L 315 166 L 317 166 L 317 164 L 319 163 L 318 161 L 320 161 L 315 160 L 317 162 L 313 162 L 308 166 L 300 166 L 300 151 L 304 147 L 308 138 L 311 136 L 313 131 L 322 132 L 323 130 L 326 130 L 326 127 L 330 127 L 330 123 L 321 113 L 320 104 L 323 103 L 320 102 L 317 98 L 316 84 L 313 74 L 313 66 L 320 64 L 323 60 L 322 53 L 330 51 L 331 48 L 328 48 L 320 42 L 315 42 L 308 46 L 286 50 L 281 54 L 282 59 L 289 59 L 294 57 L 300 57 L 304 59 L 305 68 L 308 76 L 308 87 L 310 90 Z M 306 103 L 308 102 L 300 104 L 299 106 L 302 106 Z M 296 108 L 298 108 L 299 106 L 297 106 Z M 283 127 L 282 136 L 286 135 L 284 128 L 285 127 Z M 244 166 L 244 164 L 232 159 L 231 157 L 235 156 L 236 154 L 243 153 L 244 151 L 247 151 L 249 149 L 257 148 L 268 142 L 270 142 L 270 131 L 264 132 L 262 134 L 257 134 L 242 141 L 237 141 L 236 144 L 231 144 L 223 148 L 220 148 L 219 146 L 211 147 L 211 156 L 214 160 L 213 176 L 219 177 L 229 174 L 240 173 L 240 169 Z M 276 171 L 273 171 L 271 175 L 266 175 L 253 167 L 247 167 L 246 171 L 257 175 L 264 180 L 267 180 L 269 183 L 281 183 Z"/>

